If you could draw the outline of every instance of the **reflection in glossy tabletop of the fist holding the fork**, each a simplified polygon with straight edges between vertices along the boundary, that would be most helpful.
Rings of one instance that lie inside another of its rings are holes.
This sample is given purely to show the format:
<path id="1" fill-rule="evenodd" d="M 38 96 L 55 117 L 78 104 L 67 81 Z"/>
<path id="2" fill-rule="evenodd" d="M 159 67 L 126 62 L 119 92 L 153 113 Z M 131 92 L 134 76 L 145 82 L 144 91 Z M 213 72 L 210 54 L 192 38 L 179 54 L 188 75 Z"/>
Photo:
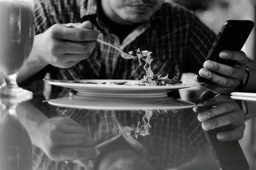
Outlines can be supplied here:
<path id="1" fill-rule="evenodd" d="M 70 118 L 54 117 L 41 122 L 36 129 L 33 143 L 52 160 L 90 159 L 99 155 L 90 133 Z"/>

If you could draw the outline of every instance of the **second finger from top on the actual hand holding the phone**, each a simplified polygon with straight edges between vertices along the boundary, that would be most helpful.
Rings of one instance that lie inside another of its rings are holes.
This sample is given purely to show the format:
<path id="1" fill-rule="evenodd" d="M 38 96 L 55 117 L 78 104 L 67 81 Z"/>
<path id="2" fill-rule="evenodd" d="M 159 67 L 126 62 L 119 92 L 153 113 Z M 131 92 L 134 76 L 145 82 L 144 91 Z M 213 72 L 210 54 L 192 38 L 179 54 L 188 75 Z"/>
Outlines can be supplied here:
<path id="1" fill-rule="evenodd" d="M 237 67 L 227 66 L 225 64 L 220 64 L 218 62 L 214 62 L 211 60 L 205 61 L 204 67 L 205 69 L 214 71 L 215 73 L 219 73 L 221 75 L 224 75 L 230 78 L 239 78 L 243 76 L 243 72 L 241 71 L 241 69 Z"/>

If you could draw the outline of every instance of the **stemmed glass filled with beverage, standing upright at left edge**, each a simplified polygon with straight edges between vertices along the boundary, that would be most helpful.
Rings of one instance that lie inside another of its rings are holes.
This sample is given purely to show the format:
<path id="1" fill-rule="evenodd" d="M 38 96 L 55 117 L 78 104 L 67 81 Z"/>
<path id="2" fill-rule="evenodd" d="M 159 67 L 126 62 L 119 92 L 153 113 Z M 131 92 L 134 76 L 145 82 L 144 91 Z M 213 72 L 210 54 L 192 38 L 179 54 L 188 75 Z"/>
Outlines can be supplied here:
<path id="1" fill-rule="evenodd" d="M 16 78 L 33 46 L 33 0 L 0 0 L 0 24 L 0 72 L 6 81 L 0 96 L 32 96 L 18 87 Z"/>

